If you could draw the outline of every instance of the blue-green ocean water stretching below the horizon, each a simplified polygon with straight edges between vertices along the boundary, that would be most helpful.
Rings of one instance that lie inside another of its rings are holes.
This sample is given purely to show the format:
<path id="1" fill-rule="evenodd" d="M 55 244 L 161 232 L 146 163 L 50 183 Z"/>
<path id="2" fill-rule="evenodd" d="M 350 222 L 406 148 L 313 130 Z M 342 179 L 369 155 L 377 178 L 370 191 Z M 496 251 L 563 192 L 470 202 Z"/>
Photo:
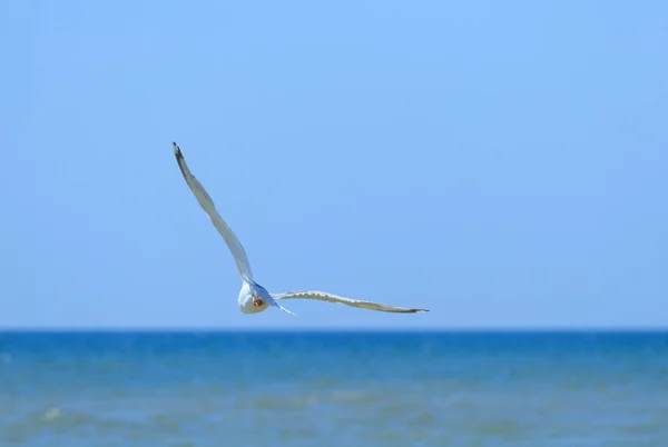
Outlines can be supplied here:
<path id="1" fill-rule="evenodd" d="M 0 446 L 668 446 L 667 332 L 0 332 Z"/>

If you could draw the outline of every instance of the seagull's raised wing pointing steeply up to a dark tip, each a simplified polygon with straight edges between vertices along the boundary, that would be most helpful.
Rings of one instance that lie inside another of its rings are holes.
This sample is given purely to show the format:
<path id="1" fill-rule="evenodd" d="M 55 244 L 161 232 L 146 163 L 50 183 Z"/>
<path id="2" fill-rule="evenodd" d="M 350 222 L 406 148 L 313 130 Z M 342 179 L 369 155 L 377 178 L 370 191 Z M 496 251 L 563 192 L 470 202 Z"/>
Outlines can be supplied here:
<path id="1" fill-rule="evenodd" d="M 206 192 L 206 189 L 204 189 L 202 183 L 188 169 L 188 165 L 186 165 L 186 159 L 184 158 L 180 148 L 176 145 L 176 142 L 173 142 L 173 146 L 176 161 L 178 162 L 178 167 L 186 179 L 186 183 L 188 183 L 188 187 L 190 187 L 190 190 L 197 198 L 199 206 L 202 206 L 204 211 L 208 215 L 212 224 L 214 224 L 214 227 L 216 227 L 220 236 L 223 236 L 223 239 L 225 239 L 225 244 L 227 244 L 227 248 L 229 248 L 229 251 L 232 252 L 232 256 L 237 265 L 239 275 L 243 278 L 252 281 L 253 274 L 250 272 L 250 264 L 248 262 L 248 257 L 246 256 L 246 250 L 244 250 L 242 242 L 239 242 L 235 234 L 232 231 L 232 228 L 229 228 L 220 215 L 218 215 L 214 201 Z"/>

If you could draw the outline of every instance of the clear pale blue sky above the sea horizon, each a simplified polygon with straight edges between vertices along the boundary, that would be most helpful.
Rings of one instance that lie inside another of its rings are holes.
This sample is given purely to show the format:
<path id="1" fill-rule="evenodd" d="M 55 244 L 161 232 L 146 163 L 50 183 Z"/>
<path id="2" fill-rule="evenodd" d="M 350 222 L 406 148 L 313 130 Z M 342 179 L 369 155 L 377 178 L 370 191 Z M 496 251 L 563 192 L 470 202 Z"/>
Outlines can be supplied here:
<path id="1" fill-rule="evenodd" d="M 666 328 L 668 3 L 0 3 L 0 328 Z M 240 279 L 425 307 L 237 308 Z"/>

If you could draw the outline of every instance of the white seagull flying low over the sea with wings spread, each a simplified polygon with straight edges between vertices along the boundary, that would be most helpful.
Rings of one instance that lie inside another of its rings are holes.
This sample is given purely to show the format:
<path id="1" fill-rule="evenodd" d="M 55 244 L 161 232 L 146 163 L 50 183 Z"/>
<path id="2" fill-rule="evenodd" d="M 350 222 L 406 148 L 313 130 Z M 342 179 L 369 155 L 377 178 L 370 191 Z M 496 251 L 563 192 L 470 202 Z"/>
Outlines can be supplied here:
<path id="1" fill-rule="evenodd" d="M 232 231 L 232 228 L 223 220 L 214 201 L 206 192 L 206 189 L 202 186 L 199 180 L 193 176 L 190 169 L 188 169 L 188 165 L 186 165 L 186 159 L 181 153 L 180 148 L 176 142 L 173 142 L 174 146 L 174 155 L 176 156 L 176 161 L 178 162 L 178 167 L 186 179 L 186 183 L 195 195 L 195 198 L 199 202 L 199 206 L 207 213 L 212 224 L 227 245 L 227 248 L 232 252 L 234 261 L 236 262 L 237 270 L 242 277 L 242 289 L 238 296 L 238 306 L 239 310 L 244 314 L 257 314 L 263 310 L 268 309 L 269 307 L 277 307 L 286 314 L 295 316 L 292 311 L 287 310 L 283 307 L 278 301 L 284 299 L 315 299 L 320 301 L 334 302 L 340 305 L 347 305 L 352 307 L 357 307 L 361 309 L 370 309 L 370 310 L 379 310 L 383 312 L 395 312 L 395 314 L 418 314 L 418 312 L 426 312 L 428 309 L 410 309 L 403 307 L 393 307 L 386 306 L 380 302 L 373 301 L 363 301 L 358 299 L 344 298 L 336 295 L 327 294 L 324 291 L 317 290 L 304 290 L 304 291 L 288 291 L 284 294 L 269 294 L 267 289 L 255 282 L 253 279 L 253 274 L 250 271 L 250 264 L 248 262 L 248 256 L 246 255 L 246 250 Z"/>

